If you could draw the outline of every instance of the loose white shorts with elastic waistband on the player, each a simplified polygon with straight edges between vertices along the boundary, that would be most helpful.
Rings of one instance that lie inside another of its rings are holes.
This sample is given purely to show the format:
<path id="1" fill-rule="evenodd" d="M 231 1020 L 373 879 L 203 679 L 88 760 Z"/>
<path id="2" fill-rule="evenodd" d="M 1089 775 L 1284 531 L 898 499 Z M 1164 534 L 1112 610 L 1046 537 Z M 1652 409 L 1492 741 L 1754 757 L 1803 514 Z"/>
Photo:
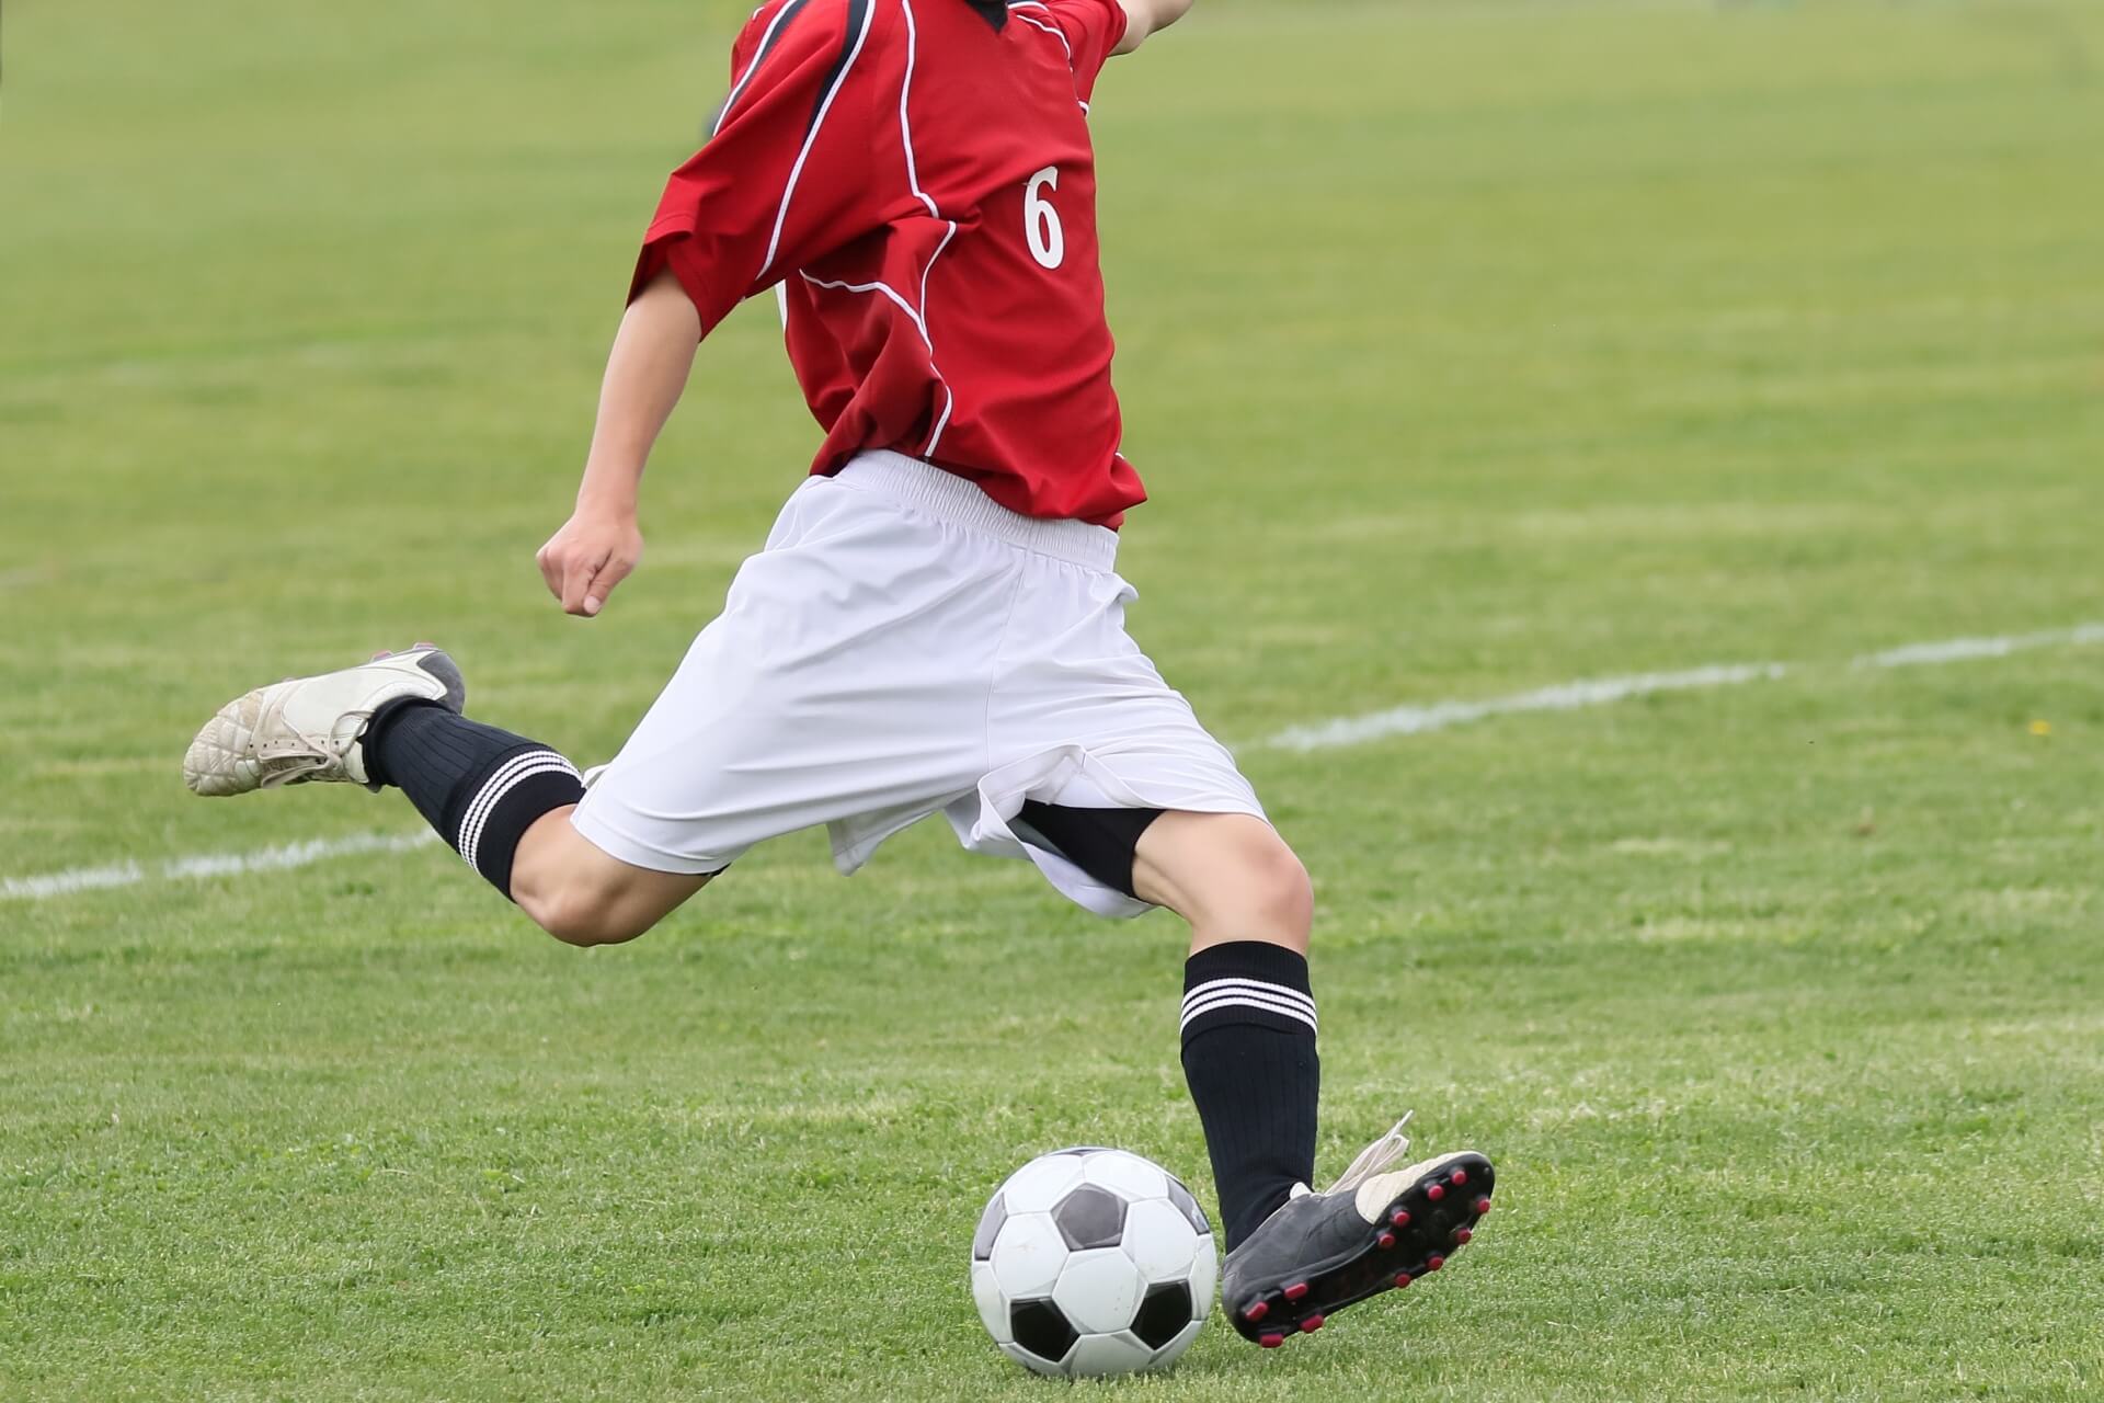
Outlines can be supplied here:
<path id="1" fill-rule="evenodd" d="M 1115 560 L 1113 530 L 1016 515 L 901 454 L 810 477 L 572 822 L 665 873 L 713 873 L 823 822 L 852 873 L 940 810 L 968 850 L 1138 915 L 1016 837 L 1023 801 L 1262 808 L 1126 635 L 1134 589 Z"/>

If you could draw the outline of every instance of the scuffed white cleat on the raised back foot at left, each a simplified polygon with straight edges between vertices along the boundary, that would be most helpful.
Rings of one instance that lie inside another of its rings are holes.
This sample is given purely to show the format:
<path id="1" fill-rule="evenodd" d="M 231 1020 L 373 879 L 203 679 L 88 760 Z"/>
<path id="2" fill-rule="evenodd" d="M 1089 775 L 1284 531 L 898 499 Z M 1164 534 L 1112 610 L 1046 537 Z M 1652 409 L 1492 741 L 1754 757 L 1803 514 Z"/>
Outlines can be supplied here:
<path id="1" fill-rule="evenodd" d="M 370 785 L 358 738 L 383 705 L 467 705 L 467 682 L 429 644 L 383 652 L 320 677 L 288 677 L 219 709 L 183 755 L 189 793 L 221 797 L 280 785 Z"/>

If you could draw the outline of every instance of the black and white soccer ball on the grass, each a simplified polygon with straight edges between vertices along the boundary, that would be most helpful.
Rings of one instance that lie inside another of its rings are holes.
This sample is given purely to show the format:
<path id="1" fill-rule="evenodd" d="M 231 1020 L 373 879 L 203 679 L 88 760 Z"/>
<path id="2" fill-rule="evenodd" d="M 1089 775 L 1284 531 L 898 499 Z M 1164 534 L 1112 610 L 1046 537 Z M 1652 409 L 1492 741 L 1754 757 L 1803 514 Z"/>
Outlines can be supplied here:
<path id="1" fill-rule="evenodd" d="M 1159 1369 L 1212 1313 L 1220 1262 L 1197 1199 L 1161 1165 L 1081 1146 L 1008 1176 L 972 1235 L 972 1300 L 1037 1374 Z"/>

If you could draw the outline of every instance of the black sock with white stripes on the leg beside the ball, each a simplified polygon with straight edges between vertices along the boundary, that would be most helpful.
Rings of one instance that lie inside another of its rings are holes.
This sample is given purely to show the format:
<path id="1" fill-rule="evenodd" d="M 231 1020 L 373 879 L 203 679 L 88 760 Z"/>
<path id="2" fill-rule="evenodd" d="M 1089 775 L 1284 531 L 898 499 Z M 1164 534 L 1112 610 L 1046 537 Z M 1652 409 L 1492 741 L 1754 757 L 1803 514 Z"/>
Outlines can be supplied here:
<path id="1" fill-rule="evenodd" d="M 1283 944 L 1214 944 L 1185 963 L 1182 1062 L 1233 1252 L 1315 1176 L 1315 999 Z"/>

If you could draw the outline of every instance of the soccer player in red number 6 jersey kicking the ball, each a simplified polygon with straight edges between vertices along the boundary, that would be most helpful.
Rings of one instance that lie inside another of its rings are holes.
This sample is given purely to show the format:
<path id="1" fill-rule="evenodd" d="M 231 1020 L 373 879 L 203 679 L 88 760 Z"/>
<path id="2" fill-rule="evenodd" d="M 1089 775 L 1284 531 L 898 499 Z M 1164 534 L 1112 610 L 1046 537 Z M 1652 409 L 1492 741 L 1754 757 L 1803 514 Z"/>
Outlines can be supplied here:
<path id="1" fill-rule="evenodd" d="M 768 837 L 835 865 L 943 812 L 1102 915 L 1191 926 L 1182 1066 L 1260 1344 L 1437 1270 L 1490 1209 L 1397 1127 L 1315 1176 L 1313 896 L 1235 759 L 1126 633 L 1119 452 L 1088 107 L 1191 0 L 768 0 L 644 236 L 576 511 L 541 547 L 598 616 L 642 557 L 638 488 L 696 343 L 776 290 L 825 429 L 724 612 L 610 766 L 463 715 L 429 646 L 265 686 L 198 734 L 200 795 L 396 787 L 572 944 L 631 940 Z M 1405 1117 L 1408 1119 L 1408 1117 Z"/>

